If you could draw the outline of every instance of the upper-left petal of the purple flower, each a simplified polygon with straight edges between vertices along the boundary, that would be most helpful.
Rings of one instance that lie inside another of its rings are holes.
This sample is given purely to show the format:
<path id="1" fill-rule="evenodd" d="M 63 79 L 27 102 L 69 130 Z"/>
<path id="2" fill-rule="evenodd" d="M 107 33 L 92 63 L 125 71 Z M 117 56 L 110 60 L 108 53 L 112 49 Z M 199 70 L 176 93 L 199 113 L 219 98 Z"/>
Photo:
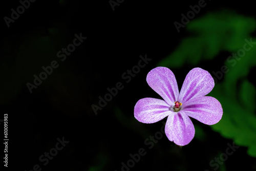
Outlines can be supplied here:
<path id="1" fill-rule="evenodd" d="M 154 68 L 147 74 L 146 81 L 169 105 L 174 105 L 179 89 L 172 71 L 166 67 Z"/>

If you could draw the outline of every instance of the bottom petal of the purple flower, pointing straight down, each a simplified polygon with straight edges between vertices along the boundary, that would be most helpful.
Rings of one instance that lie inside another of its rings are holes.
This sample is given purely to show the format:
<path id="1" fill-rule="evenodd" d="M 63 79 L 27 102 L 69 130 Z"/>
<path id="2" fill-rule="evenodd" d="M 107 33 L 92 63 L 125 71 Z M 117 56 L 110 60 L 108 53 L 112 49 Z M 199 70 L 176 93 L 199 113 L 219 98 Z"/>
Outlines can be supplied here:
<path id="1" fill-rule="evenodd" d="M 183 111 L 169 115 L 165 124 L 165 134 L 177 145 L 187 145 L 195 136 L 195 127 Z"/>

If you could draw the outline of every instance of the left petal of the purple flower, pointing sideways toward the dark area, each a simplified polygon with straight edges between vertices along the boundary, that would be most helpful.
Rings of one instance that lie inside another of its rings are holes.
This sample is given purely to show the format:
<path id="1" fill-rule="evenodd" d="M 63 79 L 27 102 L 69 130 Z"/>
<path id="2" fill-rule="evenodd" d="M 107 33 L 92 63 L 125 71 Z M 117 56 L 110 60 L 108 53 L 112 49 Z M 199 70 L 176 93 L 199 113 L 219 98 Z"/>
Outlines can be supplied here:
<path id="1" fill-rule="evenodd" d="M 134 107 L 134 117 L 142 123 L 155 123 L 171 113 L 170 105 L 155 98 L 140 99 Z"/>

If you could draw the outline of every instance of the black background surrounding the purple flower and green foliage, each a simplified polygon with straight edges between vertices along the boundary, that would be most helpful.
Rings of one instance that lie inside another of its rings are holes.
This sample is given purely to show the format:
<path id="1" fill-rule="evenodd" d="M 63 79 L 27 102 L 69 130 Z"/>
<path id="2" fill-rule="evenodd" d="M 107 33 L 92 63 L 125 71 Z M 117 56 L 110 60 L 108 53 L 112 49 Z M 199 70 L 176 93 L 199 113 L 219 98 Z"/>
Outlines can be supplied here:
<path id="1" fill-rule="evenodd" d="M 250 1 L 206 3 L 195 18 L 221 9 L 245 16 L 256 14 Z M 232 139 L 193 120 L 206 133 L 203 140 L 195 137 L 181 148 L 163 135 L 149 149 L 144 141 L 160 131 L 162 123 L 140 123 L 133 113 L 139 99 L 159 98 L 148 87 L 146 74 L 189 36 L 185 28 L 178 33 L 174 22 L 180 23 L 181 13 L 196 4 L 198 1 L 125 0 L 113 11 L 109 1 L 37 0 L 9 28 L 2 19 L 0 111 L 2 116 L 8 113 L 9 170 L 31 170 L 39 164 L 42 170 L 119 171 L 121 163 L 131 159 L 129 154 L 140 148 L 146 155 L 130 170 L 214 170 L 209 162 L 225 153 Z M 10 17 L 11 9 L 19 5 L 19 1 L 2 2 L 1 17 Z M 60 61 L 56 53 L 73 42 L 75 33 L 87 39 Z M 126 83 L 122 74 L 138 65 L 139 56 L 145 54 L 152 60 Z M 59 67 L 30 94 L 26 83 L 32 83 L 33 75 L 39 75 L 41 67 L 52 60 L 58 61 Z M 220 61 L 224 59 L 200 65 L 210 72 L 222 66 Z M 187 64 L 173 70 L 179 89 L 193 68 Z M 98 97 L 117 82 L 124 88 L 95 115 L 91 105 L 98 105 Z M 62 137 L 69 143 L 44 166 L 39 156 Z M 247 147 L 239 147 L 218 170 L 238 167 L 256 170 Z"/>

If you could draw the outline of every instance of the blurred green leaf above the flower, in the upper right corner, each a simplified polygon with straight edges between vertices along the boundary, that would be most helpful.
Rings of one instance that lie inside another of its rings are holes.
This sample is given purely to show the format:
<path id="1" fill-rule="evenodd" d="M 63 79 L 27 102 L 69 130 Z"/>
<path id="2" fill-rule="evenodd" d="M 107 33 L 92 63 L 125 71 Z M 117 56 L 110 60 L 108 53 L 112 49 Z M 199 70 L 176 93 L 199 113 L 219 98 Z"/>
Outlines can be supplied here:
<path id="1" fill-rule="evenodd" d="M 177 49 L 157 66 L 179 68 L 184 63 L 196 65 L 199 60 L 214 58 L 222 50 L 243 48 L 244 38 L 249 37 L 255 27 L 252 17 L 226 10 L 208 13 L 186 25 L 191 36 L 182 39 Z"/>

